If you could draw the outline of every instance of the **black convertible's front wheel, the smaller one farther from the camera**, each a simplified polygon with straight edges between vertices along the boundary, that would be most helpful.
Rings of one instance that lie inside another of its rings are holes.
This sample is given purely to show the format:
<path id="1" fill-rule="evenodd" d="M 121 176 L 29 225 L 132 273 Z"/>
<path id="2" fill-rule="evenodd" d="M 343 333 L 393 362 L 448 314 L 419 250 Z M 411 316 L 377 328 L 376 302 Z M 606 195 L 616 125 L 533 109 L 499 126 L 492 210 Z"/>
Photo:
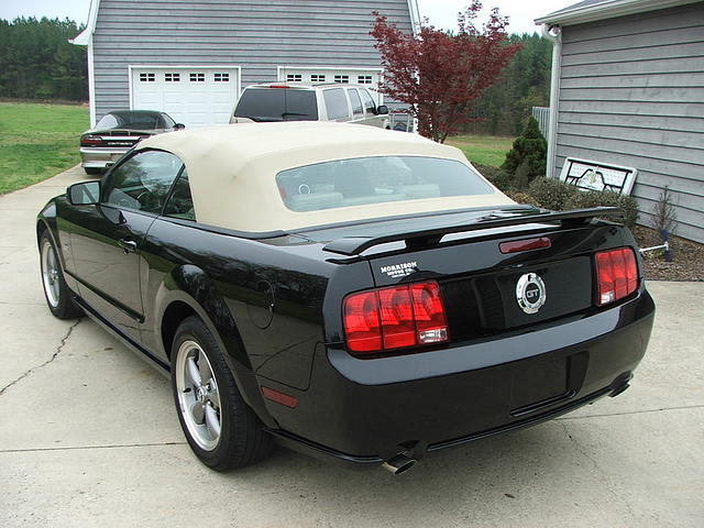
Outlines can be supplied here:
<path id="1" fill-rule="evenodd" d="M 58 319 L 77 319 L 84 315 L 74 304 L 54 241 L 45 230 L 40 237 L 40 266 L 46 305 Z"/>

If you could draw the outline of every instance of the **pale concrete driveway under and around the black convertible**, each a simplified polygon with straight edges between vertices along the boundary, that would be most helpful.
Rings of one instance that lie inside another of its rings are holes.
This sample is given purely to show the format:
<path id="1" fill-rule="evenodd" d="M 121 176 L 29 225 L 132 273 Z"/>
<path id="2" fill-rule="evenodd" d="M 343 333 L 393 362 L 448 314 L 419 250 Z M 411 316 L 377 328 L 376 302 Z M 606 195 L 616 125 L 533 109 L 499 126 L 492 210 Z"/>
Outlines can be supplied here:
<path id="1" fill-rule="evenodd" d="M 394 477 L 278 449 L 218 474 L 166 378 L 89 319 L 51 317 L 34 216 L 70 169 L 0 197 L 0 526 L 704 526 L 704 284 L 650 283 L 632 387 Z"/>

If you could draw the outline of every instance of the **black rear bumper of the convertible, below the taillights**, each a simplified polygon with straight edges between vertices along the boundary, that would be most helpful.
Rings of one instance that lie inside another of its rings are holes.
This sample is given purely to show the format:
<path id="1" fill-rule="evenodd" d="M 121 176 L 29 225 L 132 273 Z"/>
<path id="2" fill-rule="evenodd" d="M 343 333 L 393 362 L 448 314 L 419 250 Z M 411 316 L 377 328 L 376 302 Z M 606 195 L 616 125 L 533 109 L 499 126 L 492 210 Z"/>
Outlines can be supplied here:
<path id="1" fill-rule="evenodd" d="M 298 407 L 267 402 L 279 424 L 271 432 L 296 450 L 363 466 L 539 424 L 620 394 L 653 314 L 641 289 L 591 317 L 414 355 L 358 360 L 320 346 L 310 387 L 294 392 Z"/>

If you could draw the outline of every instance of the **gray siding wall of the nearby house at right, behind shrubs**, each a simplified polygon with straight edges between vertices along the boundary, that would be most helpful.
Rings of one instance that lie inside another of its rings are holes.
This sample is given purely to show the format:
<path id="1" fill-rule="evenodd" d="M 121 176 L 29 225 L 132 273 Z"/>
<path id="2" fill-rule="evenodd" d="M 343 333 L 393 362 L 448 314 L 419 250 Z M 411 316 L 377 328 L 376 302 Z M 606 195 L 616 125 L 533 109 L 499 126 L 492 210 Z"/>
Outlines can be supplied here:
<path id="1" fill-rule="evenodd" d="M 640 223 L 673 193 L 678 234 L 704 242 L 704 2 L 562 28 L 556 172 L 636 167 Z"/>

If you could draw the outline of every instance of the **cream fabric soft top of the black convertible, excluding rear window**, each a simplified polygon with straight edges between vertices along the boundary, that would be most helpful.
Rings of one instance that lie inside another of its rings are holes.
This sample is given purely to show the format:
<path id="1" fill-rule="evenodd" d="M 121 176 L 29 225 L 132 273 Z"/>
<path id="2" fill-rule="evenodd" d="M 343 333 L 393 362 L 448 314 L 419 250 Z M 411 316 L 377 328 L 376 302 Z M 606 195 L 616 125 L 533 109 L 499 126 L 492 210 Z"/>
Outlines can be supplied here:
<path id="1" fill-rule="evenodd" d="M 139 150 L 160 148 L 186 165 L 196 218 L 201 223 L 249 232 L 293 230 L 375 217 L 514 204 L 495 189 L 452 196 L 370 204 L 319 211 L 292 211 L 276 175 L 287 168 L 334 160 L 414 155 L 470 163 L 458 148 L 416 134 L 349 123 L 240 123 L 155 135 Z M 471 165 L 470 165 L 471 166 Z"/>

